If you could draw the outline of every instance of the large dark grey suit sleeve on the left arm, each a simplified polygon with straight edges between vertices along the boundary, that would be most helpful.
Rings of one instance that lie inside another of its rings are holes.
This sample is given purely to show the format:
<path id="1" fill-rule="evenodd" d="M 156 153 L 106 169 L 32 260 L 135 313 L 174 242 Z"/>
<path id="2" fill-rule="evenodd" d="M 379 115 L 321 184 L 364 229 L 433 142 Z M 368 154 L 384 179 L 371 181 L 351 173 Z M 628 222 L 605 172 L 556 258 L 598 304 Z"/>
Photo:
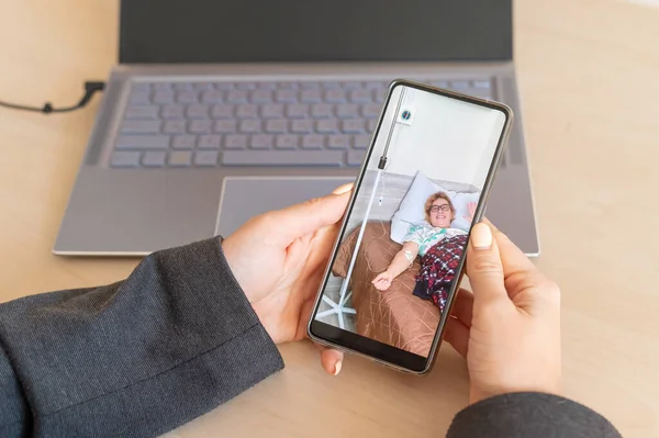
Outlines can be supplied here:
<path id="1" fill-rule="evenodd" d="M 217 238 L 0 305 L 0 436 L 164 434 L 281 370 Z"/>

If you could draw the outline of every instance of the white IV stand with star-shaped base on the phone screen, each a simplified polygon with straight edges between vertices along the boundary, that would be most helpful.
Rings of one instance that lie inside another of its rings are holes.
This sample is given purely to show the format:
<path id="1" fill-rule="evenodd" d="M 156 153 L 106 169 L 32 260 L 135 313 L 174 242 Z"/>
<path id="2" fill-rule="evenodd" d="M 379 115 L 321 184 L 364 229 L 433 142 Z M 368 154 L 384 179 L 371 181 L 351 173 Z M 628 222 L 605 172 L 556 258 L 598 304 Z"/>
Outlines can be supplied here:
<path id="1" fill-rule="evenodd" d="M 326 295 L 323 295 L 323 301 L 325 303 L 327 303 L 332 308 L 321 312 L 316 315 L 316 317 L 323 317 L 323 316 L 327 316 L 327 315 L 332 315 L 332 314 L 336 313 L 336 315 L 338 317 L 338 326 L 342 329 L 345 328 L 345 321 L 344 321 L 343 314 L 344 313 L 350 313 L 350 314 L 357 313 L 357 311 L 355 311 L 355 308 L 346 307 L 347 301 L 353 295 L 351 291 L 347 294 L 346 294 L 346 292 L 347 292 L 348 285 L 350 283 L 350 277 L 353 276 L 353 269 L 355 268 L 355 262 L 357 261 L 357 252 L 359 251 L 359 246 L 361 245 L 361 239 L 364 237 L 364 232 L 366 229 L 366 223 L 368 222 L 368 216 L 370 214 L 370 210 L 373 204 L 373 200 L 376 198 L 376 192 L 378 191 L 378 184 L 380 183 L 380 177 L 382 176 L 382 171 L 384 170 L 384 167 L 387 166 L 387 153 L 389 151 L 389 145 L 391 143 L 391 137 L 393 136 L 393 130 L 395 127 L 395 123 L 396 123 L 396 120 L 399 116 L 399 111 L 401 110 L 401 104 L 403 102 L 403 99 L 405 98 L 405 91 L 406 91 L 406 89 L 403 87 L 403 89 L 401 90 L 401 96 L 399 97 L 399 101 L 395 106 L 395 113 L 393 116 L 393 121 L 391 123 L 391 127 L 389 130 L 389 135 L 387 136 L 387 143 L 384 144 L 384 150 L 382 151 L 382 155 L 380 156 L 380 161 L 378 162 L 378 172 L 376 173 L 376 181 L 373 183 L 373 190 L 371 192 L 370 199 L 366 206 L 366 213 L 364 214 L 364 221 L 361 222 L 361 227 L 359 228 L 359 235 L 357 236 L 357 243 L 355 244 L 355 250 L 353 251 L 353 257 L 350 258 L 350 265 L 348 267 L 348 272 L 346 274 L 346 278 L 344 279 L 344 281 L 340 284 L 340 293 L 339 293 L 338 303 L 335 303 Z"/>

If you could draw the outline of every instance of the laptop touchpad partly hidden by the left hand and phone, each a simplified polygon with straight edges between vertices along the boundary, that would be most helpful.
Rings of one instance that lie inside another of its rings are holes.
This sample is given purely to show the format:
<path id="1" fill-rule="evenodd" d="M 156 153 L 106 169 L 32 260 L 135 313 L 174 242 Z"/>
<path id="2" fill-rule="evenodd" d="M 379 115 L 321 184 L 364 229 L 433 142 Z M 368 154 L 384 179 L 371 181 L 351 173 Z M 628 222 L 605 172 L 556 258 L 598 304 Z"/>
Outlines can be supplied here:
<path id="1" fill-rule="evenodd" d="M 227 237 L 249 218 L 332 193 L 350 177 L 226 177 L 215 235 Z"/>

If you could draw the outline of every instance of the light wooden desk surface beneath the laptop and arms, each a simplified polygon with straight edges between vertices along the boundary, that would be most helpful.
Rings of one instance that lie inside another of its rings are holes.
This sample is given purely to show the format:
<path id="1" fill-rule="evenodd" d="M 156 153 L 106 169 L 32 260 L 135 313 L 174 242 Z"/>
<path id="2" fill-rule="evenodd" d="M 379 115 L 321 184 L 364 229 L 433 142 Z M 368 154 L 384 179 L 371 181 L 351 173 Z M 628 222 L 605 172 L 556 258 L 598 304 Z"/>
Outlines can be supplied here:
<path id="1" fill-rule="evenodd" d="M 625 437 L 659 435 L 659 9 L 517 0 L 516 61 L 543 255 L 562 287 L 567 394 Z M 116 58 L 118 1 L 0 1 L 0 99 L 72 103 Z M 0 301 L 107 283 L 135 259 L 51 254 L 98 99 L 66 115 L 0 109 Z M 347 358 L 324 375 L 309 344 L 279 375 L 175 437 L 437 437 L 467 401 L 450 348 L 427 378 Z"/>

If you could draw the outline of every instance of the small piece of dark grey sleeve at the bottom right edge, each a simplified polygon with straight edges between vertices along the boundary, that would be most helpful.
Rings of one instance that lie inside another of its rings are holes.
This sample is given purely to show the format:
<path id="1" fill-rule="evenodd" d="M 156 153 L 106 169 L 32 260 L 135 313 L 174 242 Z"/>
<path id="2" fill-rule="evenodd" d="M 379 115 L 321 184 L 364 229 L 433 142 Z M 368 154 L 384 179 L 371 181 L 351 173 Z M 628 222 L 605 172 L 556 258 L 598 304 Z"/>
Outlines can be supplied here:
<path id="1" fill-rule="evenodd" d="M 594 411 L 557 395 L 521 392 L 474 403 L 454 418 L 447 438 L 622 438 Z"/>

